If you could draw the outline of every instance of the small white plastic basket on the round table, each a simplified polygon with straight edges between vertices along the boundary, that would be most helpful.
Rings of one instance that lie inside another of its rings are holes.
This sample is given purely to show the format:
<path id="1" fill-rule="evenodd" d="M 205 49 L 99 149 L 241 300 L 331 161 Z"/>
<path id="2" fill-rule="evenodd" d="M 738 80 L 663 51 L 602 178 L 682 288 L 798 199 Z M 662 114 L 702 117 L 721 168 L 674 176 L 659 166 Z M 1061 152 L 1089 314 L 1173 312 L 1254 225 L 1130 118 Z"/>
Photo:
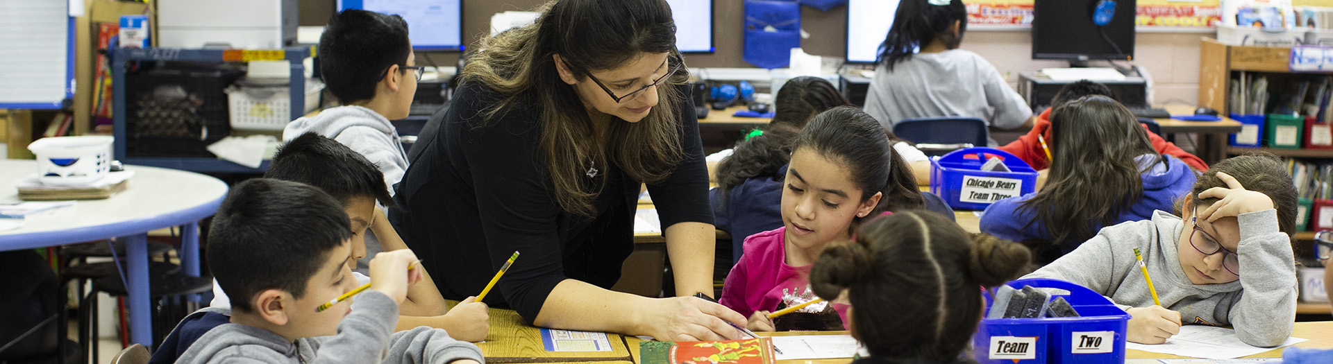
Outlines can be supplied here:
<path id="1" fill-rule="evenodd" d="M 37 155 L 37 177 L 49 185 L 89 184 L 111 171 L 111 136 L 43 137 L 28 144 Z"/>

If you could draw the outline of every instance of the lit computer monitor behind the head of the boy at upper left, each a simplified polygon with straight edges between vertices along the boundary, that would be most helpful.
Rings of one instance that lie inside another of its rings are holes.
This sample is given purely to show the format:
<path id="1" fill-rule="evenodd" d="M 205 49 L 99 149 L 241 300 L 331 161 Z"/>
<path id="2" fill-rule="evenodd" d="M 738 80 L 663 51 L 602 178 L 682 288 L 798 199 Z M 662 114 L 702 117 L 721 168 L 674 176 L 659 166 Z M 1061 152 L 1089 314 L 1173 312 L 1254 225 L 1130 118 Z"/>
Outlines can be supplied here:
<path id="1" fill-rule="evenodd" d="M 463 0 L 337 0 L 337 9 L 401 16 L 416 51 L 463 51 Z"/>

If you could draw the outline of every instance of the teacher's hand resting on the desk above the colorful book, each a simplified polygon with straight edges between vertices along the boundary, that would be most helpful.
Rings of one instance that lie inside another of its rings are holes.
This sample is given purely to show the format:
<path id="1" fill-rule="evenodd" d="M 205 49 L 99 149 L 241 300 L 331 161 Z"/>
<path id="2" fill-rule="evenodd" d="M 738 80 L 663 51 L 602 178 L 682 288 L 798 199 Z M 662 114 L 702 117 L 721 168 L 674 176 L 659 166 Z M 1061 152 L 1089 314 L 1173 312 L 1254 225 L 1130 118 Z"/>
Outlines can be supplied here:
<path id="1" fill-rule="evenodd" d="M 663 341 L 714 341 L 742 339 L 737 327 L 745 316 L 697 297 L 656 299 L 645 307 L 643 332 Z"/>

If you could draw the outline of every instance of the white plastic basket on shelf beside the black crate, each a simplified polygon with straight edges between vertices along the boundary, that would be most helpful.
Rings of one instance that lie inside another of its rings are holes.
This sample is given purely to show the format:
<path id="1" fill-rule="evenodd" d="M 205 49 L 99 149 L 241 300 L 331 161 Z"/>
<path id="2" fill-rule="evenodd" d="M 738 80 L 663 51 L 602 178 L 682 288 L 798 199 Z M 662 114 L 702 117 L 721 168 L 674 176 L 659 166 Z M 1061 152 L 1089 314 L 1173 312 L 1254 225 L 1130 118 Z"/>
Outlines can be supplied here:
<path id="1" fill-rule="evenodd" d="M 305 108 L 301 113 L 315 111 L 320 105 L 320 91 L 324 84 L 305 80 Z M 236 85 L 227 88 L 227 104 L 231 109 L 233 129 L 281 131 L 292 121 L 289 105 L 292 97 L 287 84 L 281 85 Z"/>

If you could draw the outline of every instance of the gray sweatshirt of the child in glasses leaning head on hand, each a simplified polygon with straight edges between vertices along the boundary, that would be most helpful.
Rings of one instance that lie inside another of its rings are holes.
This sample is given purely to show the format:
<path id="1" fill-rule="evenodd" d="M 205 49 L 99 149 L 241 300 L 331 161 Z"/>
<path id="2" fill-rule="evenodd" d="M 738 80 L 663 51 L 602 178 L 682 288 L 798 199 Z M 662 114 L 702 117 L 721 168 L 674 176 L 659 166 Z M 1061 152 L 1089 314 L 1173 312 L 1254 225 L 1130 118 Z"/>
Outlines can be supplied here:
<path id="1" fill-rule="evenodd" d="M 1121 308 L 1150 307 L 1152 293 L 1134 259 L 1144 264 L 1162 307 L 1180 312 L 1184 324 L 1232 325 L 1245 344 L 1276 347 L 1292 335 L 1296 321 L 1296 257 L 1290 239 L 1277 229 L 1277 211 L 1237 216 L 1241 279 L 1224 284 L 1193 284 L 1177 257 L 1185 228 L 1180 217 L 1157 211 L 1152 220 L 1101 229 L 1093 239 L 1024 279 L 1072 281 L 1109 297 Z M 1182 249 L 1193 249 L 1188 243 Z"/>

